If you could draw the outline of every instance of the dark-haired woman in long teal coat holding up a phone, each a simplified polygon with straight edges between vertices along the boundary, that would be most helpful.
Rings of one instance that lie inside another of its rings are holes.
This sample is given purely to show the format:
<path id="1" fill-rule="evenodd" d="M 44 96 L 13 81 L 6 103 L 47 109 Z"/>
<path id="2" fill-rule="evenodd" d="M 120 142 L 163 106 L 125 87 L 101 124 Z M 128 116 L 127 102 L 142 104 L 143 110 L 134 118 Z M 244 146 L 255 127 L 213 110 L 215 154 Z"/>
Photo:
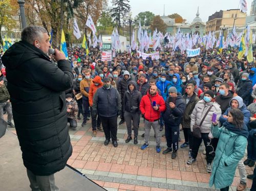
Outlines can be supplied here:
<path id="1" fill-rule="evenodd" d="M 221 128 L 214 123 L 212 135 L 219 138 L 209 185 L 227 191 L 233 182 L 238 162 L 243 158 L 248 131 L 244 115 L 239 109 L 230 109 L 227 121 Z"/>

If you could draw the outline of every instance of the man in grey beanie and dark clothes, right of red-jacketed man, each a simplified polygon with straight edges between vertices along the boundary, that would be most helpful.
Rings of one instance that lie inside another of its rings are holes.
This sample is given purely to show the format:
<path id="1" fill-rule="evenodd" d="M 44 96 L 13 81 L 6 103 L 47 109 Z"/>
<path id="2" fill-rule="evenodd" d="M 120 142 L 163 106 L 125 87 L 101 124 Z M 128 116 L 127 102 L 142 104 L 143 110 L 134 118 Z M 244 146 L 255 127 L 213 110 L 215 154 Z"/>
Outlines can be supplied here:
<path id="1" fill-rule="evenodd" d="M 173 152 L 172 158 L 175 159 L 179 148 L 180 123 L 186 103 L 181 94 L 177 93 L 176 87 L 170 87 L 168 95 L 165 101 L 166 110 L 163 114 L 167 149 L 163 154 Z"/>

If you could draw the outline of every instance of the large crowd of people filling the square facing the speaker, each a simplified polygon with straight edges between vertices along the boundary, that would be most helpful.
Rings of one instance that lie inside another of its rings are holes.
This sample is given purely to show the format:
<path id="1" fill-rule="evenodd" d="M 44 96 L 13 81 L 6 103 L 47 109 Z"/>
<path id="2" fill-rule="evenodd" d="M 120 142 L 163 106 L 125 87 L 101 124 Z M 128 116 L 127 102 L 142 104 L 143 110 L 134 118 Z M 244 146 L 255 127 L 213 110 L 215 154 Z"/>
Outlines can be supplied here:
<path id="1" fill-rule="evenodd" d="M 246 176 L 245 165 L 254 166 L 256 158 L 256 62 L 239 60 L 237 54 L 237 49 L 219 52 L 202 47 L 195 58 L 166 49 L 159 59 L 117 52 L 111 61 L 103 61 L 98 49 L 91 48 L 88 55 L 79 47 L 68 49 L 74 76 L 73 87 L 66 90 L 68 123 L 76 128 L 82 116 L 85 126 L 91 117 L 92 136 L 103 131 L 104 145 L 112 141 L 117 147 L 118 116 L 119 125 L 127 127 L 125 142 L 134 139 L 135 145 L 142 117 L 142 150 L 149 146 L 153 128 L 156 152 L 161 152 L 164 136 L 162 154 L 172 153 L 176 159 L 179 147 L 187 148 L 186 163 L 191 165 L 203 140 L 210 186 L 228 190 L 238 166 L 237 190 L 246 188 L 246 178 L 253 179 L 255 190 L 256 170 Z M 0 81 L 0 115 L 5 108 L 13 126 L 5 81 Z M 179 146 L 181 131 L 185 141 Z M 242 161 L 246 147 L 247 159 Z"/>

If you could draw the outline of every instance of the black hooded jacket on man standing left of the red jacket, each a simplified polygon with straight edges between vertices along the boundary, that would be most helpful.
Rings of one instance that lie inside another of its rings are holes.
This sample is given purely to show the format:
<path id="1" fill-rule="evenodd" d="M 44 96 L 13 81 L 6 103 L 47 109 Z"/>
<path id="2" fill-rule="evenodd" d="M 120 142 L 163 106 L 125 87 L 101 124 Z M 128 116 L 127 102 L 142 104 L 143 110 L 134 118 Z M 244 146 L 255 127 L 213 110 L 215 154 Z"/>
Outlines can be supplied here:
<path id="1" fill-rule="evenodd" d="M 133 84 L 135 89 L 133 90 L 133 92 L 129 91 L 129 85 Z M 128 86 L 127 86 L 127 91 L 125 91 L 124 96 L 123 96 L 123 104 L 124 107 L 123 109 L 125 111 L 131 112 L 132 108 L 136 107 L 137 111 L 139 111 L 139 107 L 140 107 L 140 100 L 141 100 L 141 93 L 136 89 L 136 83 L 135 81 L 131 81 L 129 82 Z M 134 109 L 133 108 L 133 109 Z M 134 111 L 133 111 L 134 112 Z"/>

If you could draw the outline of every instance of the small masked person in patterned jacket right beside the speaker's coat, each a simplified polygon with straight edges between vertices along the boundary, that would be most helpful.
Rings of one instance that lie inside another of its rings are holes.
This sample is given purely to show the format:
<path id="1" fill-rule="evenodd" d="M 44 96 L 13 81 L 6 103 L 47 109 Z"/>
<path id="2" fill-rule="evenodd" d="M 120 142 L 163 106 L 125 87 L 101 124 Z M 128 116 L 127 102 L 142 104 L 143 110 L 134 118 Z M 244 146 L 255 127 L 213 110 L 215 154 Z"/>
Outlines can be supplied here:
<path id="1" fill-rule="evenodd" d="M 70 124 L 71 128 L 76 128 L 77 122 L 76 122 L 75 112 L 78 111 L 78 107 L 77 107 L 77 103 L 72 98 L 72 95 L 70 93 L 66 95 L 66 107 L 67 107 L 68 123 Z"/>

